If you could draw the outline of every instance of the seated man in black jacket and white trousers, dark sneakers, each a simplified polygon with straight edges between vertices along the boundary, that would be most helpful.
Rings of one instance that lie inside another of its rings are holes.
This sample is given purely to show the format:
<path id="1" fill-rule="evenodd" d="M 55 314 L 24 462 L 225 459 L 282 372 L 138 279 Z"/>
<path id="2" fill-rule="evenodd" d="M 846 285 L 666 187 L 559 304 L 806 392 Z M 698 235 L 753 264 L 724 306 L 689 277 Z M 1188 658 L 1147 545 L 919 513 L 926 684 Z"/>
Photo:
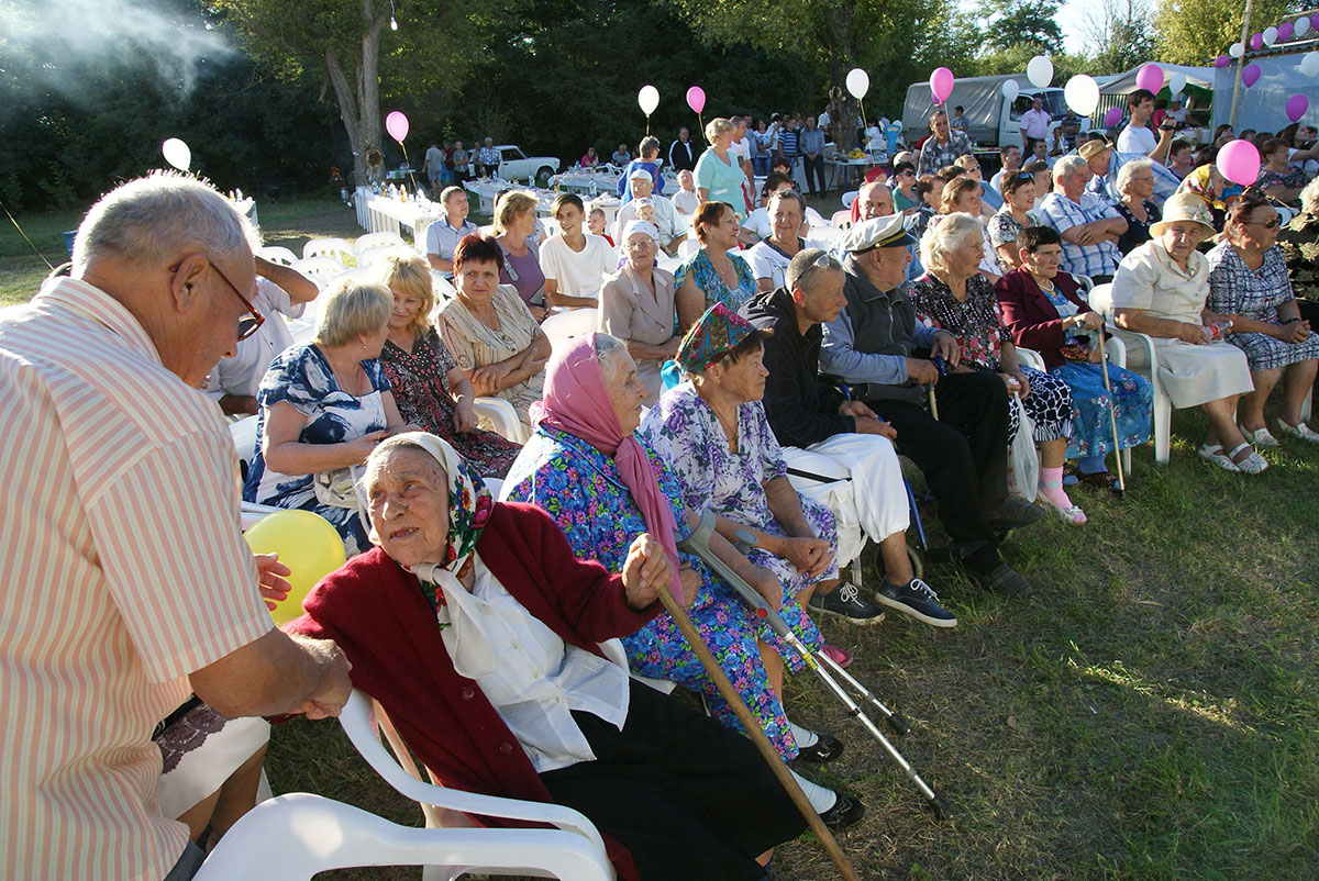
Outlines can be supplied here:
<path id="1" fill-rule="evenodd" d="M 906 553 L 909 508 L 893 440 L 897 431 L 860 401 L 848 401 L 819 375 L 822 324 L 847 302 L 843 269 L 819 248 L 803 248 L 783 273 L 785 286 L 757 294 L 741 309 L 765 339 L 765 415 L 780 444 L 802 447 L 852 479 L 857 520 L 880 545 L 884 583 L 876 599 L 931 626 L 956 626 L 929 584 L 915 578 Z M 842 591 L 839 591 L 842 592 Z M 832 593 L 811 605 L 851 617 L 835 608 Z M 869 605 L 869 604 L 867 604 Z"/>

